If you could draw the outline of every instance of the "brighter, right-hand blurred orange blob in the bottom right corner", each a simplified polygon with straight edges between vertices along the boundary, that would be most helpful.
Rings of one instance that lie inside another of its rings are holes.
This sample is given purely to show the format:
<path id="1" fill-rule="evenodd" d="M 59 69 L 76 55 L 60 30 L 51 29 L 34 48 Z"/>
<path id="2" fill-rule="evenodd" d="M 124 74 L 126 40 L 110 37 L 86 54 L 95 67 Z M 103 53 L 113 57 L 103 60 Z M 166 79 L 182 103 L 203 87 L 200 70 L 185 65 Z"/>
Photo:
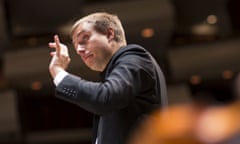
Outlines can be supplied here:
<path id="1" fill-rule="evenodd" d="M 239 132 L 239 103 L 212 107 L 201 113 L 196 136 L 203 143 L 224 143 Z"/>

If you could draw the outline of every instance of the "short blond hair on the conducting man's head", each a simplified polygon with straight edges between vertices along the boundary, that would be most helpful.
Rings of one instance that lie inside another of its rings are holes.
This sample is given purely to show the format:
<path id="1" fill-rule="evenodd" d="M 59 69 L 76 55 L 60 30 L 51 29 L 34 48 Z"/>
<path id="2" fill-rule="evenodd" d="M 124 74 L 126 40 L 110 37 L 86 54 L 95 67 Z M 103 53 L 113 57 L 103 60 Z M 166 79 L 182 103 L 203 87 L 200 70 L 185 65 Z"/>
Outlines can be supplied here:
<path id="1" fill-rule="evenodd" d="M 84 22 L 92 23 L 94 29 L 102 34 L 107 34 L 107 29 L 112 28 L 115 33 L 114 40 L 118 43 L 123 43 L 126 45 L 125 32 L 117 15 L 107 12 L 96 12 L 89 14 L 75 22 L 71 29 L 71 36 L 77 27 Z"/>

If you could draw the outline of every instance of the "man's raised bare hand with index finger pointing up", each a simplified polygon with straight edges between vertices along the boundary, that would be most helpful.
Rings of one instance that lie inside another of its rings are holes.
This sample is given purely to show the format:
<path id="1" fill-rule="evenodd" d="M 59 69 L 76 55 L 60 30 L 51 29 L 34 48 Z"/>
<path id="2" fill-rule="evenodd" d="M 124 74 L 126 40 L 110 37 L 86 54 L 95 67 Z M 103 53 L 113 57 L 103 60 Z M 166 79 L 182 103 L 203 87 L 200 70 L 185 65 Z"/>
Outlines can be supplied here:
<path id="1" fill-rule="evenodd" d="M 67 69 L 71 59 L 67 46 L 60 42 L 58 35 L 54 36 L 54 42 L 50 42 L 48 46 L 55 49 L 55 51 L 50 53 L 52 60 L 49 64 L 49 72 L 51 76 L 55 78 L 57 73 Z"/>

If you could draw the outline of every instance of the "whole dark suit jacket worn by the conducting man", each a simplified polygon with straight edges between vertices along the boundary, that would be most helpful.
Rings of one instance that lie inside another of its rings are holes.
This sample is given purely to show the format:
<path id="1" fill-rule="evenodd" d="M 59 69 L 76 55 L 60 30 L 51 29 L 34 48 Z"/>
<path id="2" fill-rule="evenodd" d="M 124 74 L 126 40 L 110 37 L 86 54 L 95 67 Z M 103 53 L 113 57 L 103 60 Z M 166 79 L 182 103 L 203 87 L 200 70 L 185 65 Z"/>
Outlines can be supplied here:
<path id="1" fill-rule="evenodd" d="M 167 105 L 166 83 L 154 58 L 138 45 L 120 48 L 101 73 L 101 82 L 66 76 L 58 98 L 95 114 L 93 143 L 125 144 L 143 115 Z"/>

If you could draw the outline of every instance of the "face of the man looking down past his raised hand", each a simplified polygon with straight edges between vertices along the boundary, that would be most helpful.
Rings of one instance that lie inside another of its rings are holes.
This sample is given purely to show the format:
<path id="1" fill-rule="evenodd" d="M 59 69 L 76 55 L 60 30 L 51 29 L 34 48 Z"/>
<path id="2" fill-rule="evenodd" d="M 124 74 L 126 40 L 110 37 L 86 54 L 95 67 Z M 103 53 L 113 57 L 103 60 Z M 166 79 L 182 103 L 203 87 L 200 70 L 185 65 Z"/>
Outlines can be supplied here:
<path id="1" fill-rule="evenodd" d="M 77 54 L 90 69 L 105 69 L 113 55 L 107 35 L 95 31 L 90 23 L 82 23 L 73 32 L 72 40 Z"/>

